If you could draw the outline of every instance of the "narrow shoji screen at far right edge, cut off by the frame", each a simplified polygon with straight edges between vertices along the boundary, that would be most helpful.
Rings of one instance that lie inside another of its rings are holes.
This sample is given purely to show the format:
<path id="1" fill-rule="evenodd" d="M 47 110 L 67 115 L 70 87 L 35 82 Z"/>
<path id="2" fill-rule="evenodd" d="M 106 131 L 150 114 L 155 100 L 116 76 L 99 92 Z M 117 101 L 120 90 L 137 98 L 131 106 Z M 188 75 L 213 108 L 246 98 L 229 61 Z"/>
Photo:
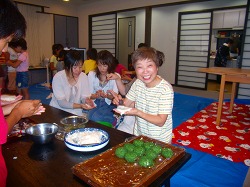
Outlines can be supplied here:
<path id="1" fill-rule="evenodd" d="M 244 42 L 244 50 L 242 56 L 242 68 L 250 69 L 250 3 L 248 2 L 247 8 L 247 24 Z M 250 84 L 239 84 L 238 90 L 239 99 L 250 99 Z"/>

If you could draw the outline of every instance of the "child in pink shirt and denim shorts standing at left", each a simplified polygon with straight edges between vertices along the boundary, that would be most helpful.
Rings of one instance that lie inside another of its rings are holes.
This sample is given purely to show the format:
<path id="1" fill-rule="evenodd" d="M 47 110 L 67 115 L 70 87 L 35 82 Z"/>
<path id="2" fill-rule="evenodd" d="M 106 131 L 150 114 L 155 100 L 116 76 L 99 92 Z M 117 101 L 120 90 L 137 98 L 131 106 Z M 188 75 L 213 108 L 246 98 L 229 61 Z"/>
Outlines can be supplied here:
<path id="1" fill-rule="evenodd" d="M 27 42 L 25 39 L 12 42 L 13 49 L 18 53 L 17 61 L 8 61 L 8 65 L 16 68 L 17 92 L 23 95 L 24 100 L 30 99 L 29 95 L 29 54 L 27 52 Z"/>

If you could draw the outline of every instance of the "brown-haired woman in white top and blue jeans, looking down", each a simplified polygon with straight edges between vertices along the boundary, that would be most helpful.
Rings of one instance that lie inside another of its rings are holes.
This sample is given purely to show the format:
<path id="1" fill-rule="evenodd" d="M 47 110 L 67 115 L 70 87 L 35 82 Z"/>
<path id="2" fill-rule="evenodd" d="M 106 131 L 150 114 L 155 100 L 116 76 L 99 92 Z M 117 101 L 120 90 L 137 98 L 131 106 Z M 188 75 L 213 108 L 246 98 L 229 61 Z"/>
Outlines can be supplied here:
<path id="1" fill-rule="evenodd" d="M 95 99 L 96 108 L 89 111 L 89 119 L 92 121 L 104 121 L 115 124 L 112 104 L 113 96 L 109 90 L 118 93 L 115 80 L 108 80 L 107 75 L 115 72 L 115 58 L 107 51 L 103 50 L 97 54 L 97 68 L 88 74 L 91 99 Z"/>

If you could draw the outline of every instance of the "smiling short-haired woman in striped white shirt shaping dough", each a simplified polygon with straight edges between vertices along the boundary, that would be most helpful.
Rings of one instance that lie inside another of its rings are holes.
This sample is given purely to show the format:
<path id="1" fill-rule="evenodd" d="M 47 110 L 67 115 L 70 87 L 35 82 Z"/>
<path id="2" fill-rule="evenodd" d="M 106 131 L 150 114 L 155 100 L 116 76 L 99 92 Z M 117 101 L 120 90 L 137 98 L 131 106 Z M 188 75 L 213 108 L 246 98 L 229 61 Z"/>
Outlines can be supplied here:
<path id="1" fill-rule="evenodd" d="M 154 48 L 142 47 L 133 52 L 132 64 L 137 79 L 123 99 L 123 104 L 131 107 L 125 115 L 136 117 L 135 135 L 171 143 L 174 92 L 171 84 L 158 75 L 163 62 L 164 54 Z M 122 97 L 113 96 L 113 103 L 118 105 Z"/>

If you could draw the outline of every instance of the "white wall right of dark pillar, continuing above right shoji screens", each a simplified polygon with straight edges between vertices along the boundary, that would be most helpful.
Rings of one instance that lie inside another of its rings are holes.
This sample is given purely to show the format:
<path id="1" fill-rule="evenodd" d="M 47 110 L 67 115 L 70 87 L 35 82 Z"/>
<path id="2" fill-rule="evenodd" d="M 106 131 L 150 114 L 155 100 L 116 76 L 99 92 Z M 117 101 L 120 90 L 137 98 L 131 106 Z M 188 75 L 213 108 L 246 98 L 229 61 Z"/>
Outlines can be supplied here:
<path id="1" fill-rule="evenodd" d="M 179 12 L 246 4 L 247 0 L 217 0 L 195 4 L 153 8 L 151 46 L 164 52 L 166 58 L 165 63 L 159 70 L 159 74 L 171 84 L 175 83 Z"/>

